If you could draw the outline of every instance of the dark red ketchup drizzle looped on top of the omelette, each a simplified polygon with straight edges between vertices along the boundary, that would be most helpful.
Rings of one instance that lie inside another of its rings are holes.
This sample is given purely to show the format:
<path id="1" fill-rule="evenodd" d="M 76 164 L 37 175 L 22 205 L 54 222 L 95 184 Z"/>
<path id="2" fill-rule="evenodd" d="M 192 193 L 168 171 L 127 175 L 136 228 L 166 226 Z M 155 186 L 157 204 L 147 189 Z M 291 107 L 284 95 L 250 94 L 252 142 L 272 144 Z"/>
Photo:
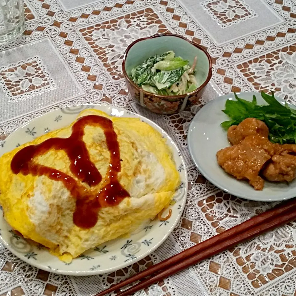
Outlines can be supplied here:
<path id="1" fill-rule="evenodd" d="M 88 150 L 83 142 L 86 125 L 99 126 L 103 130 L 110 153 L 110 164 L 101 190 L 91 187 L 102 181 L 102 176 L 91 162 Z M 70 160 L 70 170 L 81 182 L 90 188 L 82 186 L 76 179 L 51 167 L 34 162 L 36 156 L 45 154 L 48 150 L 64 150 Z M 110 119 L 97 115 L 79 118 L 72 125 L 69 138 L 49 138 L 37 145 L 30 145 L 19 150 L 11 160 L 10 167 L 14 174 L 47 176 L 50 179 L 63 182 L 64 186 L 76 199 L 73 213 L 73 223 L 80 228 L 91 228 L 96 225 L 98 211 L 103 207 L 118 205 L 129 193 L 120 185 L 117 179 L 121 171 L 121 160 L 117 134 Z"/>

